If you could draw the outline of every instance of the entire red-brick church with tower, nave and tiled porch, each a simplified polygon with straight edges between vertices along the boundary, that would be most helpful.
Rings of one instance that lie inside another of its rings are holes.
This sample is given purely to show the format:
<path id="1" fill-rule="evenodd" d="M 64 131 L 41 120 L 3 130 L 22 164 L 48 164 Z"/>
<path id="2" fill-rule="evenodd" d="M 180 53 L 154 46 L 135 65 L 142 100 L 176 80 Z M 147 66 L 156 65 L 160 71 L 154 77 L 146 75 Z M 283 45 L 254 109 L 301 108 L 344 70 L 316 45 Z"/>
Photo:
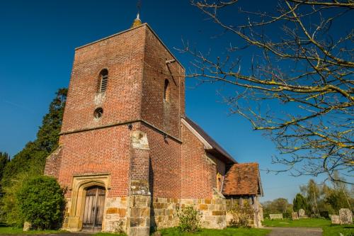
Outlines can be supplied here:
<path id="1" fill-rule="evenodd" d="M 193 205 L 202 227 L 227 227 L 234 201 L 261 225 L 258 164 L 239 164 L 185 115 L 185 69 L 139 16 L 77 47 L 45 174 L 66 189 L 62 228 L 149 235 Z"/>

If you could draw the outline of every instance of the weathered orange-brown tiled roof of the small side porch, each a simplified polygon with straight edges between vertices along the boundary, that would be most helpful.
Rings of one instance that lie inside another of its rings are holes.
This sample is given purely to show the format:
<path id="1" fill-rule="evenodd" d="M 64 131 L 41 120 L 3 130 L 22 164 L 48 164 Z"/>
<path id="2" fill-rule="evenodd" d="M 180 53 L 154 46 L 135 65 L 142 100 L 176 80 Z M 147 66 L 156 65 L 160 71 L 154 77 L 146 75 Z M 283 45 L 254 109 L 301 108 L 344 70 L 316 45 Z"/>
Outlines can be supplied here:
<path id="1" fill-rule="evenodd" d="M 222 194 L 263 196 L 258 163 L 233 164 L 225 175 Z"/>

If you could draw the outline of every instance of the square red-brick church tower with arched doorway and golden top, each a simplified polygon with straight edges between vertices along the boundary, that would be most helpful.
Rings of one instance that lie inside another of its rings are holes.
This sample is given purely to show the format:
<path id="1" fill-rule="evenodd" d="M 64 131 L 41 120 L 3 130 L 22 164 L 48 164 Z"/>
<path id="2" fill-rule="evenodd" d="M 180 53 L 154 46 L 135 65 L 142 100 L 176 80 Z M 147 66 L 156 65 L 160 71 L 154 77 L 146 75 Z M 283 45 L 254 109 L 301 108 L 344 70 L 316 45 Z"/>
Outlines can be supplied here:
<path id="1" fill-rule="evenodd" d="M 75 49 L 59 148 L 45 166 L 67 189 L 65 230 L 149 235 L 152 196 L 181 197 L 183 75 L 139 16 Z"/>

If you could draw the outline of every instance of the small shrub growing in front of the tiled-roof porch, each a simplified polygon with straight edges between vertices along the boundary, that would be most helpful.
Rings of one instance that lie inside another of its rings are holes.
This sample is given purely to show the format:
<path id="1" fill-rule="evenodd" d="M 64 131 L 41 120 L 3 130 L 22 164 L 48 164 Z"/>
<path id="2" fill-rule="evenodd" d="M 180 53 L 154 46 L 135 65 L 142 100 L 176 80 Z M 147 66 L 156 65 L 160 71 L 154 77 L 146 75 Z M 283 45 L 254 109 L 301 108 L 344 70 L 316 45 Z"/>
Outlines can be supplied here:
<path id="1" fill-rule="evenodd" d="M 244 206 L 239 206 L 239 203 L 235 203 L 229 213 L 232 215 L 229 223 L 231 227 L 249 227 L 249 221 L 253 218 L 254 210 L 249 205 L 249 202 L 246 201 Z"/>

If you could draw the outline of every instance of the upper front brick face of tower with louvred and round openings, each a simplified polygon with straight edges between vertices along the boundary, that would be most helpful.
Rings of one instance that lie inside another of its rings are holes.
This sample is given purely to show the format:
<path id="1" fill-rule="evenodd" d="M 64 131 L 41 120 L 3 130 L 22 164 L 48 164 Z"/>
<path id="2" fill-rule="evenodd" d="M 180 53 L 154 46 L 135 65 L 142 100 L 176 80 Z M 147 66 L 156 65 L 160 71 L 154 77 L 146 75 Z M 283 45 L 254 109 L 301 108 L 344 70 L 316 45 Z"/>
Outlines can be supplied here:
<path id="1" fill-rule="evenodd" d="M 140 117 L 145 28 L 76 49 L 62 132 L 93 128 Z M 108 69 L 105 94 L 98 94 L 100 72 Z M 103 108 L 100 120 L 93 111 Z"/>

